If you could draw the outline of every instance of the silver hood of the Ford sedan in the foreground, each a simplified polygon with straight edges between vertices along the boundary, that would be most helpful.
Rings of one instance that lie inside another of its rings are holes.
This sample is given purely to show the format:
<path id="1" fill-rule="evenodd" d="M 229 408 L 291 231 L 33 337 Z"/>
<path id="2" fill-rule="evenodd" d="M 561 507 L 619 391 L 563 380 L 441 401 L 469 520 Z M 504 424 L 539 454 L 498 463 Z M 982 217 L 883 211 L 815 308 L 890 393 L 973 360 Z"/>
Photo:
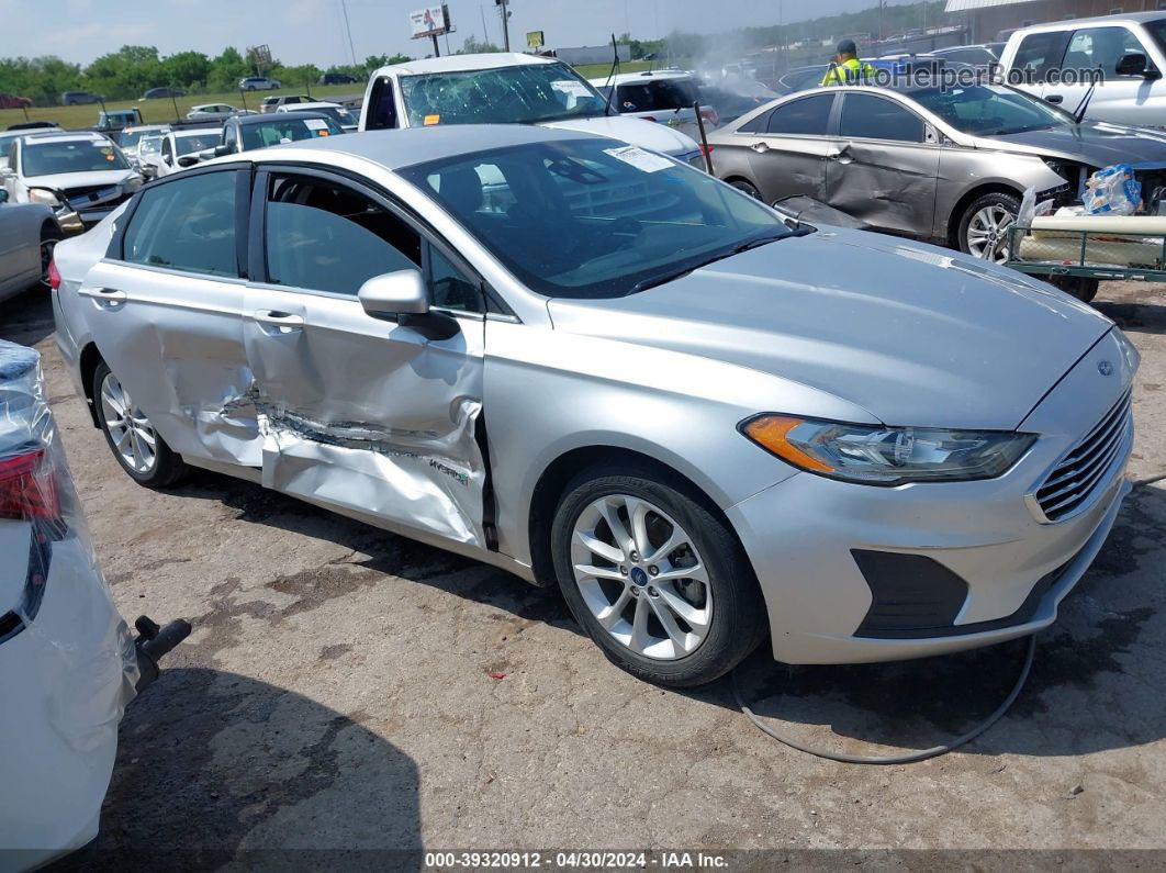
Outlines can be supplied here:
<path id="1" fill-rule="evenodd" d="M 829 228 L 618 300 L 553 300 L 556 330 L 792 379 L 890 425 L 1013 430 L 1112 322 L 1020 273 Z M 758 397 L 757 410 L 781 397 Z"/>

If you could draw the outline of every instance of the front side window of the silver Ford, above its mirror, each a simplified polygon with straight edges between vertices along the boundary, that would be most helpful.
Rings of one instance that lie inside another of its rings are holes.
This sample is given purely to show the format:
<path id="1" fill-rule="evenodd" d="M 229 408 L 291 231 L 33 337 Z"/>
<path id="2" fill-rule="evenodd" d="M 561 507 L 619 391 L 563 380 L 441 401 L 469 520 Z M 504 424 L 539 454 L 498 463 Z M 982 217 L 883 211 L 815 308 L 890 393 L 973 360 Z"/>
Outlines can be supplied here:
<path id="1" fill-rule="evenodd" d="M 421 237 L 350 188 L 275 176 L 267 199 L 267 274 L 274 284 L 356 296 L 373 276 L 421 267 Z"/>

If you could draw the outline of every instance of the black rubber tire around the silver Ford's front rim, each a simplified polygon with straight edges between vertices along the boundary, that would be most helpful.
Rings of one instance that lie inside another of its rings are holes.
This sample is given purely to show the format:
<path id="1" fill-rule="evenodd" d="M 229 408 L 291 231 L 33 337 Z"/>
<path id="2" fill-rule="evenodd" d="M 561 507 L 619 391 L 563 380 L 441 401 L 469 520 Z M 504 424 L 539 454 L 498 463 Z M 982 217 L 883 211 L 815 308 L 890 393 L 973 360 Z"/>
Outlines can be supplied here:
<path id="1" fill-rule="evenodd" d="M 571 561 L 575 523 L 593 501 L 614 494 L 647 500 L 670 515 L 707 565 L 712 617 L 703 642 L 690 655 L 665 661 L 632 652 L 599 625 L 580 593 Z M 550 537 L 555 576 L 576 621 L 607 660 L 638 678 L 666 688 L 703 685 L 732 670 L 765 638 L 765 603 L 749 558 L 725 523 L 679 477 L 626 463 L 585 470 L 564 490 Z"/>

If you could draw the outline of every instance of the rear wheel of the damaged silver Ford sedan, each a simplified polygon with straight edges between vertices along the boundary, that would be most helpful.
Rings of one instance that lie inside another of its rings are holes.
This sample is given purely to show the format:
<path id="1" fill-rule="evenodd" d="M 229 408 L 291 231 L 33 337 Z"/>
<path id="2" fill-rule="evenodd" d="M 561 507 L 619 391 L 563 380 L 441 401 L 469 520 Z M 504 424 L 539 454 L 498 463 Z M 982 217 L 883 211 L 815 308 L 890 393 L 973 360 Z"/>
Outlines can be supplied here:
<path id="1" fill-rule="evenodd" d="M 187 474 L 189 467 L 154 430 L 105 361 L 93 373 L 93 402 L 110 450 L 131 479 L 147 488 L 164 488 Z"/>

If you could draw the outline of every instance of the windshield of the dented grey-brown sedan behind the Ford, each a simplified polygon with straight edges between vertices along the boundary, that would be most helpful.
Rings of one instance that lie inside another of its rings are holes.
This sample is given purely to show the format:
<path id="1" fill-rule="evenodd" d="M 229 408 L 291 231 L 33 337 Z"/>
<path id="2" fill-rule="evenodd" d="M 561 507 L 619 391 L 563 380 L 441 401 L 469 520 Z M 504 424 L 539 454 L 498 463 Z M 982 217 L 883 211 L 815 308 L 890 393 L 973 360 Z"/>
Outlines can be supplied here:
<path id="1" fill-rule="evenodd" d="M 955 129 L 972 136 L 1002 136 L 1073 125 L 1068 113 L 1003 85 L 927 87 L 912 91 L 909 96 Z"/>

